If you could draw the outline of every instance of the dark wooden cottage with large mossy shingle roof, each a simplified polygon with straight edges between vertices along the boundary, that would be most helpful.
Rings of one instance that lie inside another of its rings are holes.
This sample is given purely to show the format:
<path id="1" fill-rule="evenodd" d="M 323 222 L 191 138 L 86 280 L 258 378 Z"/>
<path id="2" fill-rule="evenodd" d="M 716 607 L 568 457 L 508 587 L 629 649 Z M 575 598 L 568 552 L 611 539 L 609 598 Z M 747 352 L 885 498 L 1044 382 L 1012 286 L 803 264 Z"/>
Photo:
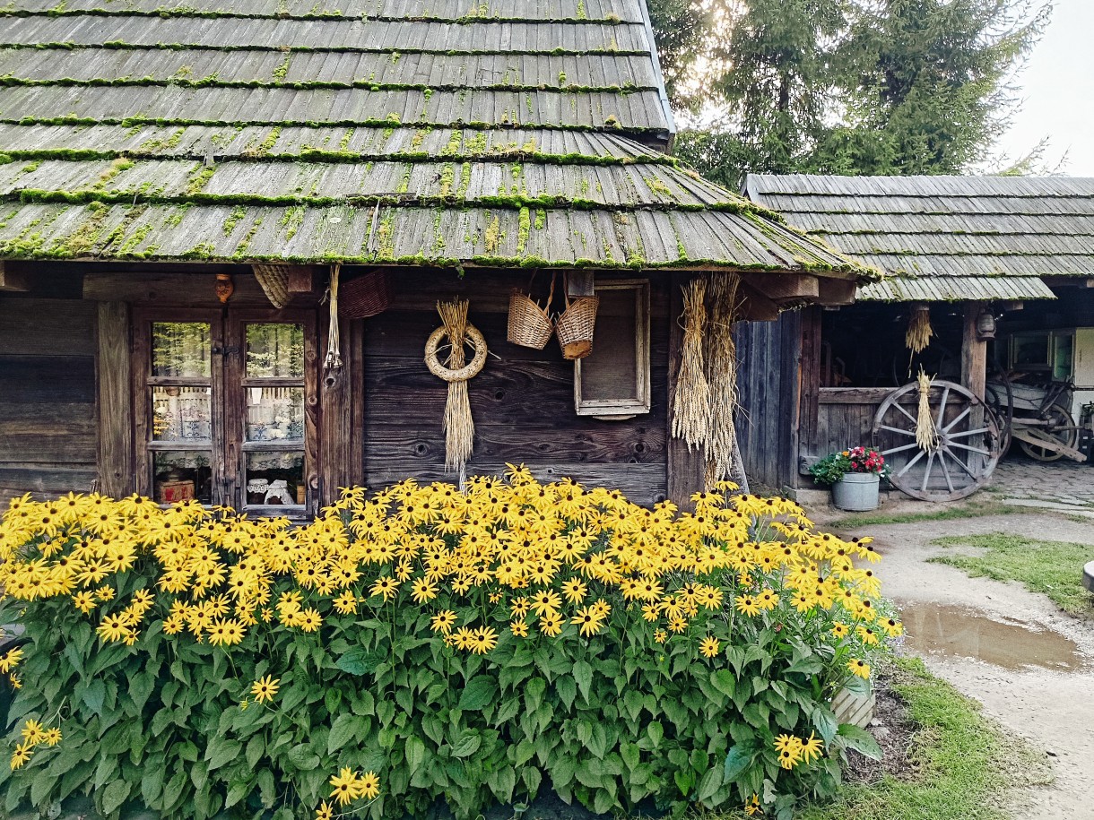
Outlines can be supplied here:
<path id="1" fill-rule="evenodd" d="M 461 297 L 467 471 L 684 499 L 680 283 L 737 272 L 757 319 L 853 295 L 857 263 L 666 155 L 641 0 L 242 8 L 0 11 L 0 496 L 304 515 L 451 478 L 423 349 Z M 514 288 L 598 296 L 592 354 L 509 343 Z"/>

